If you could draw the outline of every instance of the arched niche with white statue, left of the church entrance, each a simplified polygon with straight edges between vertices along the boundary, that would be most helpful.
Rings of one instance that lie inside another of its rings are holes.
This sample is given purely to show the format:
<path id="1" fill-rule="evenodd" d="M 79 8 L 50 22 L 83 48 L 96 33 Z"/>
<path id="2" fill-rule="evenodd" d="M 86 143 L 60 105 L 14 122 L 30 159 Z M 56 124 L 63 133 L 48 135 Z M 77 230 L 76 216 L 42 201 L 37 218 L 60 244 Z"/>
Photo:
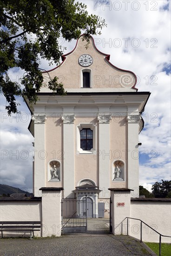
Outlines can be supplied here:
<path id="1" fill-rule="evenodd" d="M 60 182 L 61 181 L 61 166 L 60 162 L 57 160 L 52 160 L 48 163 L 48 180 L 50 182 Z"/>

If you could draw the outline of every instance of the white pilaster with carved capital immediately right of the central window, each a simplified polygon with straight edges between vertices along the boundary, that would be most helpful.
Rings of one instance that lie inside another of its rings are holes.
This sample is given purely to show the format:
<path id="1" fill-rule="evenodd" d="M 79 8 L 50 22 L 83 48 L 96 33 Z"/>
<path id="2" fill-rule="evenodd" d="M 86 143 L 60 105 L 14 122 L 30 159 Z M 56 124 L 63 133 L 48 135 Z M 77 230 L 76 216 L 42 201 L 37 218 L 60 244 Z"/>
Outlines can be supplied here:
<path id="1" fill-rule="evenodd" d="M 99 198 L 109 198 L 110 193 L 110 120 L 111 114 L 99 114 Z"/>

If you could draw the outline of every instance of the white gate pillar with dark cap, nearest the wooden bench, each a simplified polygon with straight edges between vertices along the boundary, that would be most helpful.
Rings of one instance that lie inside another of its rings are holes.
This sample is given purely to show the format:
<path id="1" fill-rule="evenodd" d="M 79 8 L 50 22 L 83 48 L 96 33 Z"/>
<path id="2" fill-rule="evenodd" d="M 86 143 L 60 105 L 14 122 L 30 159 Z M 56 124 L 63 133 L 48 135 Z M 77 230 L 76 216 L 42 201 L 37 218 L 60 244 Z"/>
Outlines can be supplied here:
<path id="1" fill-rule="evenodd" d="M 40 188 L 39 190 L 42 194 L 42 236 L 60 236 L 63 188 Z"/>

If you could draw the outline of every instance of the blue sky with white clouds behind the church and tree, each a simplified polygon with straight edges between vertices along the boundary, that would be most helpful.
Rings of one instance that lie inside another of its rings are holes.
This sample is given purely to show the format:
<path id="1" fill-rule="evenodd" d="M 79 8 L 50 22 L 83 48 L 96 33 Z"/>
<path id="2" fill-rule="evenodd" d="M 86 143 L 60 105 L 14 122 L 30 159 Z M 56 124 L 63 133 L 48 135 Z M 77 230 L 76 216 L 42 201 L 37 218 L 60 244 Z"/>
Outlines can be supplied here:
<path id="1" fill-rule="evenodd" d="M 113 65 L 138 76 L 139 92 L 151 92 L 143 113 L 145 128 L 139 135 L 139 183 L 151 189 L 156 181 L 171 179 L 171 1 L 83 2 L 89 13 L 99 15 L 107 23 L 102 34 L 94 36 L 96 47 L 111 55 Z M 61 38 L 60 44 L 67 53 L 76 41 L 68 43 Z M 48 70 L 48 62 L 42 60 L 40 67 Z M 22 75 L 20 69 L 9 71 L 16 81 Z M 8 117 L 6 101 L 2 96 L 0 99 L 0 183 L 29 189 L 33 186 L 33 137 L 27 130 L 31 115 L 19 99 L 21 115 Z"/>

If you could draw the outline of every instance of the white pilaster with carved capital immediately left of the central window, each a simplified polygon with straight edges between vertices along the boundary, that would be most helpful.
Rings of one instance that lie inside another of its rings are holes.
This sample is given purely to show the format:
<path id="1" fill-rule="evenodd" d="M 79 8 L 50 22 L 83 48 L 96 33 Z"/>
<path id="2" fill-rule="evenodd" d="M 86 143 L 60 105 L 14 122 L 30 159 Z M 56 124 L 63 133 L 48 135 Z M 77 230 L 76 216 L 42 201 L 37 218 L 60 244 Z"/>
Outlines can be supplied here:
<path id="1" fill-rule="evenodd" d="M 64 198 L 73 197 L 74 181 L 74 120 L 75 115 L 62 115 L 63 120 L 63 150 L 64 150 Z"/>

